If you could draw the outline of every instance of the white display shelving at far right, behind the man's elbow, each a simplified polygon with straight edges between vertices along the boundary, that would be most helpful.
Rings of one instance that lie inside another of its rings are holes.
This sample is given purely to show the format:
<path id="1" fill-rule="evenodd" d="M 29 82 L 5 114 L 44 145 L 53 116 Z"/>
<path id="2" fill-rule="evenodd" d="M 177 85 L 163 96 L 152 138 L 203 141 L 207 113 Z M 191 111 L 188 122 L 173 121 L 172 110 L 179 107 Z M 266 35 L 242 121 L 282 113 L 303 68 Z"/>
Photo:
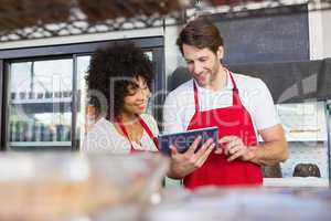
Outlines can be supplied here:
<path id="1" fill-rule="evenodd" d="M 328 187 L 330 182 L 330 110 L 329 101 L 277 104 L 279 120 L 286 133 L 289 159 L 281 164 L 286 179 L 267 180 L 266 186 Z M 296 168 L 311 171 L 295 175 Z M 313 167 L 318 170 L 313 173 Z M 305 168 L 303 168 L 305 169 Z M 319 176 L 318 176 L 319 175 Z"/>

